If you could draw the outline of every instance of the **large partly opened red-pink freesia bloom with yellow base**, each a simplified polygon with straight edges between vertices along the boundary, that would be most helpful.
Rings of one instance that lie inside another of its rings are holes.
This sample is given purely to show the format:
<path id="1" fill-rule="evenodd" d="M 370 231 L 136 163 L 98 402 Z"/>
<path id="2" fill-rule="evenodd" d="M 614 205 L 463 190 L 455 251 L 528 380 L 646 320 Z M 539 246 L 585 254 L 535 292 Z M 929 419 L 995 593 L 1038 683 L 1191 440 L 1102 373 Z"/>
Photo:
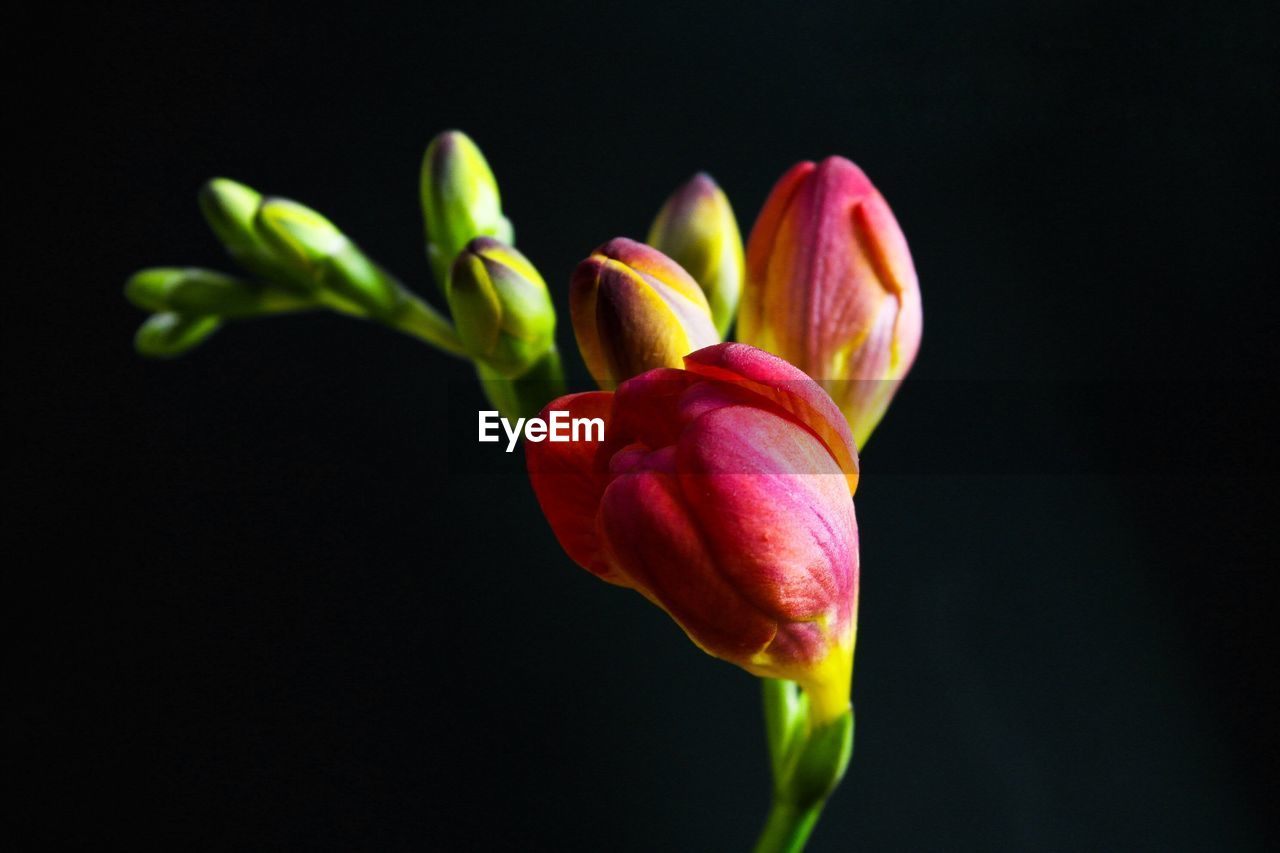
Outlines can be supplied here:
<path id="1" fill-rule="evenodd" d="M 849 708 L 858 456 L 840 410 L 767 352 L 721 343 L 544 411 L 604 441 L 526 444 L 534 491 L 579 565 L 666 610 L 704 651 Z"/>

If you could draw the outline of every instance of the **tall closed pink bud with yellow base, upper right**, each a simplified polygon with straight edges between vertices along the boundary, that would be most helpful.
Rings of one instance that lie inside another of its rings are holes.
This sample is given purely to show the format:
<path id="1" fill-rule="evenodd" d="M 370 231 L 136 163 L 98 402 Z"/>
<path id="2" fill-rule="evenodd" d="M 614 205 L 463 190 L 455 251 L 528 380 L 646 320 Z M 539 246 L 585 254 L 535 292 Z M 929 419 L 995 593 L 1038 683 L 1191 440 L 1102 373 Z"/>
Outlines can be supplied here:
<path id="1" fill-rule="evenodd" d="M 861 447 L 920 346 L 906 238 L 863 170 L 800 163 L 773 187 L 746 245 L 739 339 L 817 379 Z"/>

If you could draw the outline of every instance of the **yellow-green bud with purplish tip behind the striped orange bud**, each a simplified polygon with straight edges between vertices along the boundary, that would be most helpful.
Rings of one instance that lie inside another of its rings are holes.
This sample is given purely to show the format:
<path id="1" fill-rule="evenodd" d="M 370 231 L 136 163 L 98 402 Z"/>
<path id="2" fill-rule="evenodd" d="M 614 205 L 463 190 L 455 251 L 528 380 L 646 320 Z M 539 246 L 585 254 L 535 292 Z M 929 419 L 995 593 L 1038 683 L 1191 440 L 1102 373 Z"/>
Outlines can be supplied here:
<path id="1" fill-rule="evenodd" d="M 667 199 L 646 242 L 694 277 L 724 337 L 742 295 L 745 261 L 733 207 L 709 174 L 699 172 Z"/>

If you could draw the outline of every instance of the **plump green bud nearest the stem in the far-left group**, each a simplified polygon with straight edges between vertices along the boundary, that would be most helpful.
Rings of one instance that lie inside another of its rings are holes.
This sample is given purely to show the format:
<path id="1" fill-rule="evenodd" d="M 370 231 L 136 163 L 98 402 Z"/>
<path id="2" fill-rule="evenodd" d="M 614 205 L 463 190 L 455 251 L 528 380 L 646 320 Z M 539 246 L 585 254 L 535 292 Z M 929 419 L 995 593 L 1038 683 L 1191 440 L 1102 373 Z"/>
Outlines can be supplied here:
<path id="1" fill-rule="evenodd" d="M 275 257 L 293 270 L 293 280 L 324 288 L 374 316 L 399 305 L 399 284 L 315 210 L 288 199 L 265 199 L 255 225 Z"/>

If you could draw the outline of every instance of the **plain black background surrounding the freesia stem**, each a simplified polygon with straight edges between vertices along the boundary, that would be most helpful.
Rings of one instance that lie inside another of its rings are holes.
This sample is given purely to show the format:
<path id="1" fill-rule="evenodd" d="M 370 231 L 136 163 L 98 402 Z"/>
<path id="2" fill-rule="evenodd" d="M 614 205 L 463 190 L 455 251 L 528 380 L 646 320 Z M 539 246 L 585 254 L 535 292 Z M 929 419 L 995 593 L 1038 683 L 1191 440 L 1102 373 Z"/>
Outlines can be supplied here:
<path id="1" fill-rule="evenodd" d="M 228 266 L 216 174 L 435 298 L 417 167 L 460 127 L 577 388 L 568 272 L 696 169 L 745 231 L 844 154 L 908 234 L 925 336 L 863 456 L 858 745 L 813 850 L 1274 840 L 1272 5 L 95 4 L 19 33 L 13 830 L 750 845 L 756 685 L 568 561 L 522 459 L 475 443 L 465 364 L 329 315 L 132 352 L 131 272 Z"/>

